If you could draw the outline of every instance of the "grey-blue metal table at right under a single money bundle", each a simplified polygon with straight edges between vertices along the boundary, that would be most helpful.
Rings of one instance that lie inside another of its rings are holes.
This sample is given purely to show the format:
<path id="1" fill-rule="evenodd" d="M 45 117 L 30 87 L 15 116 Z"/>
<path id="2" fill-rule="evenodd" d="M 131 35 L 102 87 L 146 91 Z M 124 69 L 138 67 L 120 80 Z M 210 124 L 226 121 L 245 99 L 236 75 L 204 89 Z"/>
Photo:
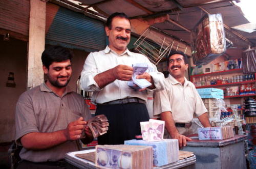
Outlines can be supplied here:
<path id="1" fill-rule="evenodd" d="M 195 134 L 188 137 L 194 137 Z M 187 142 L 182 150 L 197 157 L 196 168 L 246 168 L 244 140 L 246 135 L 234 135 L 224 140 L 198 140 Z"/>

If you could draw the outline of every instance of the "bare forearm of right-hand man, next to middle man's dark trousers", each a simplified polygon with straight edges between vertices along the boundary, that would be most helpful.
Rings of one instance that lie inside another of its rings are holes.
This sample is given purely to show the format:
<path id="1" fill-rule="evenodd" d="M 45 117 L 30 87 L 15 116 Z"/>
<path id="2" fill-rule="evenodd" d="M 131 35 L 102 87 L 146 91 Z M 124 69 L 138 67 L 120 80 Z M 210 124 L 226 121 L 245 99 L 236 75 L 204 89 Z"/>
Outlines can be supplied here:
<path id="1" fill-rule="evenodd" d="M 175 127 L 173 115 L 170 111 L 164 111 L 160 114 L 161 120 L 165 121 L 165 128 L 167 129 L 170 136 L 179 133 Z"/>

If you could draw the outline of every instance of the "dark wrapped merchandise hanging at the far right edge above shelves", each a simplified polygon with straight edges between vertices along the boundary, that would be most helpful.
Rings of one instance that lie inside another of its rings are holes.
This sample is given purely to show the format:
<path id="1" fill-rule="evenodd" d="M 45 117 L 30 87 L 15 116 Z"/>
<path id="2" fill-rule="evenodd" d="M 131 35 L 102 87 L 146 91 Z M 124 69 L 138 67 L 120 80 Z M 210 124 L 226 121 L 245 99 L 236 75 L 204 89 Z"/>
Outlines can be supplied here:
<path id="1" fill-rule="evenodd" d="M 246 49 L 242 53 L 242 59 L 244 73 L 256 72 L 256 49 Z"/>

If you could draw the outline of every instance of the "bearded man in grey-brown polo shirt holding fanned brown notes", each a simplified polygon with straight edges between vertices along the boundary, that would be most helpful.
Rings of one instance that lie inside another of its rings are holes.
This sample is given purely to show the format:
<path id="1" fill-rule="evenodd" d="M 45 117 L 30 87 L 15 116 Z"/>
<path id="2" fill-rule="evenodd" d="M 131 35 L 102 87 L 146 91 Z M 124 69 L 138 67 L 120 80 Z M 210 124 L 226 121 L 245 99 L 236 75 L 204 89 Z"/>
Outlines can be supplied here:
<path id="1" fill-rule="evenodd" d="M 66 153 L 80 149 L 83 131 L 84 144 L 93 139 L 86 126 L 90 110 L 67 86 L 72 75 L 70 51 L 50 46 L 41 59 L 47 80 L 24 92 L 16 105 L 15 141 L 23 146 L 18 168 L 59 168 Z"/>

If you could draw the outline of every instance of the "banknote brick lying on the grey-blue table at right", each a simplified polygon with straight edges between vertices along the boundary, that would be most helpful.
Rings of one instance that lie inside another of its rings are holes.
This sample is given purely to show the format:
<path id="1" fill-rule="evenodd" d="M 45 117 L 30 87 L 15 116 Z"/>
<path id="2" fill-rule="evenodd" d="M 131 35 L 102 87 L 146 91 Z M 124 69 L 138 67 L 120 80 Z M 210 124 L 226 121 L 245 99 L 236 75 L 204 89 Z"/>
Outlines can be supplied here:
<path id="1" fill-rule="evenodd" d="M 227 139 L 233 136 L 232 126 L 198 128 L 198 138 L 200 140 Z"/>

